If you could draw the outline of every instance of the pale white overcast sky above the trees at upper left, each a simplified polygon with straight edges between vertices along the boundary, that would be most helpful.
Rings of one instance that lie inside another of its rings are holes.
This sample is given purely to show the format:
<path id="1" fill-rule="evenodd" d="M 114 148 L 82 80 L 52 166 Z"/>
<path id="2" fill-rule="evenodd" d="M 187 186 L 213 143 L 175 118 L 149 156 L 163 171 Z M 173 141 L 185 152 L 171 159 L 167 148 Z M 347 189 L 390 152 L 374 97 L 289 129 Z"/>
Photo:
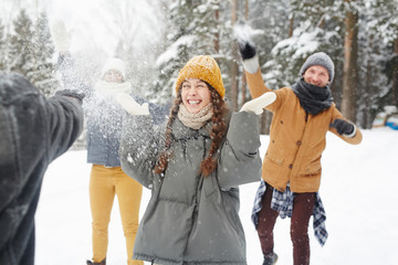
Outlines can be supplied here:
<path id="1" fill-rule="evenodd" d="M 71 50 L 101 46 L 112 55 L 116 36 L 121 32 L 135 35 L 127 39 L 135 47 L 159 38 L 159 15 L 146 0 L 1 0 L 0 14 L 3 23 L 11 23 L 19 7 L 30 15 L 46 10 L 50 24 L 63 20 L 73 31 Z M 127 38 L 127 36 L 126 36 Z M 145 44 L 146 43 L 146 44 Z"/>

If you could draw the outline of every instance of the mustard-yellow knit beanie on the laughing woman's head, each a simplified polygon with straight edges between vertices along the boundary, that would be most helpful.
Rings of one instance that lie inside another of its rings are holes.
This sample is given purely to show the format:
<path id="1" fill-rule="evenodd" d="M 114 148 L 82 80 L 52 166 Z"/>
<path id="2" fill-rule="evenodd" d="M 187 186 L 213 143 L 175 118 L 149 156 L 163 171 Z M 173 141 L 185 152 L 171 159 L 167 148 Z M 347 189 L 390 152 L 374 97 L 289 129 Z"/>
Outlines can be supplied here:
<path id="1" fill-rule="evenodd" d="M 221 97 L 226 95 L 222 83 L 221 71 L 214 59 L 209 55 L 198 55 L 188 61 L 180 70 L 176 81 L 176 92 L 180 88 L 184 81 L 198 78 L 209 83 Z"/>

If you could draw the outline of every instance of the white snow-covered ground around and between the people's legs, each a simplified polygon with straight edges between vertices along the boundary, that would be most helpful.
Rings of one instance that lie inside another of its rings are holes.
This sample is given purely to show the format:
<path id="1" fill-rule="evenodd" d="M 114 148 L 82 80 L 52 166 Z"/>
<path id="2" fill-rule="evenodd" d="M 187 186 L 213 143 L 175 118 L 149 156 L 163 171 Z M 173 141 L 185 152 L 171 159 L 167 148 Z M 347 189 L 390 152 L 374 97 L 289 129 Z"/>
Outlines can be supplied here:
<path id="1" fill-rule="evenodd" d="M 320 194 L 329 237 L 321 247 L 310 225 L 311 264 L 384 264 L 398 261 L 398 131 L 364 130 L 359 146 L 327 135 L 322 158 Z M 261 136 L 263 157 L 269 137 Z M 85 151 L 69 151 L 49 168 L 36 212 L 36 265 L 78 265 L 92 257 L 88 203 L 90 165 Z M 259 183 L 241 187 L 241 220 L 249 265 L 262 264 L 256 232 L 250 221 Z M 144 189 L 140 216 L 149 200 Z M 275 225 L 279 265 L 293 264 L 290 220 Z M 109 224 L 107 264 L 126 264 L 117 201 Z"/>

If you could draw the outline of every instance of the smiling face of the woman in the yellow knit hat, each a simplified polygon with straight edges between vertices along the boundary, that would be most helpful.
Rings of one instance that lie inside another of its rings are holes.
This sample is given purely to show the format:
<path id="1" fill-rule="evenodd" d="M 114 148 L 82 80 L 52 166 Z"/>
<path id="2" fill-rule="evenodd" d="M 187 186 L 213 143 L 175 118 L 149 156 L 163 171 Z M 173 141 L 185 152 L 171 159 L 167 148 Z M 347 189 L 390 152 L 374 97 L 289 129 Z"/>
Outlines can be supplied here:
<path id="1" fill-rule="evenodd" d="M 195 114 L 211 102 L 211 93 L 203 81 L 189 78 L 182 82 L 181 98 L 187 110 Z"/>

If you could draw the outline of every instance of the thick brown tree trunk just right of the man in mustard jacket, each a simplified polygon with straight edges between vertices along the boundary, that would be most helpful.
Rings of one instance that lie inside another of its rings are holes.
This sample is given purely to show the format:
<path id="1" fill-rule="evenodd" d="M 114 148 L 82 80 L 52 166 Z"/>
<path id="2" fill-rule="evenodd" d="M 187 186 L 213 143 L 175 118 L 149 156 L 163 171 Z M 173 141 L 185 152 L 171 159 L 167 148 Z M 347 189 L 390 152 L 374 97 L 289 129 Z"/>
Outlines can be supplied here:
<path id="1" fill-rule="evenodd" d="M 355 0 L 345 0 L 348 4 Z M 348 10 L 345 17 L 345 40 L 344 40 L 344 76 L 343 76 L 343 115 L 356 121 L 356 97 L 358 84 L 358 13 Z"/>

